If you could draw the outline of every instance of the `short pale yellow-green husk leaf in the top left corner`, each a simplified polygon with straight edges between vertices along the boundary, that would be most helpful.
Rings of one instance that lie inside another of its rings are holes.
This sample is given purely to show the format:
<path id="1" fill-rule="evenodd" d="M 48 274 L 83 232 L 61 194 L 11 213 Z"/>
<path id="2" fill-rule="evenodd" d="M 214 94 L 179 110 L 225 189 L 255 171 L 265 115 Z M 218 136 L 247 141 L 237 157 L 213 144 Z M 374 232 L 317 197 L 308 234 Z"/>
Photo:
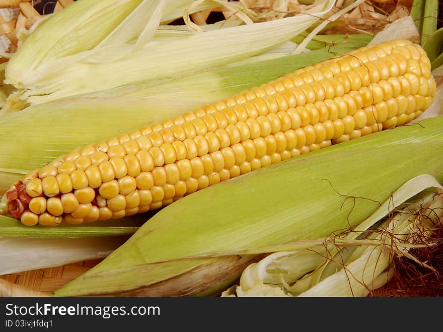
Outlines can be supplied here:
<path id="1" fill-rule="evenodd" d="M 26 41 L 9 60 L 7 79 L 14 78 L 14 83 L 20 86 L 23 75 L 37 68 L 43 59 L 93 48 L 140 2 L 141 0 L 88 0 L 73 3 L 45 20 L 27 36 Z M 85 23 L 93 33 L 85 33 Z M 65 29 L 60 29 L 61 26 Z"/>

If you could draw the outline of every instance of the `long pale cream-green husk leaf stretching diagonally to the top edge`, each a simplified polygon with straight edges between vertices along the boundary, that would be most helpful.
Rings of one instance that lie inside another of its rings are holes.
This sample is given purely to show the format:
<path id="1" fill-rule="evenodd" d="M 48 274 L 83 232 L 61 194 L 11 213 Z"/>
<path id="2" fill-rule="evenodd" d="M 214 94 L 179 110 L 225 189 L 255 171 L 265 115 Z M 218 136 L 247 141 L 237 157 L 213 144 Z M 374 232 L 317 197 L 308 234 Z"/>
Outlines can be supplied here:
<path id="1" fill-rule="evenodd" d="M 112 45 L 47 59 L 20 79 L 21 98 L 30 104 L 40 104 L 97 89 L 112 89 L 141 80 L 160 82 L 219 67 L 293 38 L 317 22 L 333 3 L 319 2 L 315 13 L 310 15 L 207 31 L 171 42 Z M 142 61 L 145 58 L 150 61 Z M 69 67 L 65 63 L 70 63 Z M 86 73 L 89 80 L 84 80 Z M 8 81 L 17 81 L 9 76 L 8 69 L 6 74 Z"/>

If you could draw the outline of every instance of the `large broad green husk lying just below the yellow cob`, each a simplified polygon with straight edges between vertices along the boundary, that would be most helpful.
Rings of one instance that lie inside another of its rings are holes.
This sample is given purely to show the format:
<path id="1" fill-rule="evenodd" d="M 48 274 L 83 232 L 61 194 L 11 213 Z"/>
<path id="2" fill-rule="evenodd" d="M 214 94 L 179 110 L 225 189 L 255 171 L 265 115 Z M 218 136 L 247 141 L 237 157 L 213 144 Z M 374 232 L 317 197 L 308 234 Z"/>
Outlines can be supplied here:
<path id="1" fill-rule="evenodd" d="M 443 180 L 435 153 L 443 147 L 442 126 L 443 117 L 426 119 L 197 191 L 54 295 L 217 294 L 266 247 L 357 225 L 420 174 Z"/>

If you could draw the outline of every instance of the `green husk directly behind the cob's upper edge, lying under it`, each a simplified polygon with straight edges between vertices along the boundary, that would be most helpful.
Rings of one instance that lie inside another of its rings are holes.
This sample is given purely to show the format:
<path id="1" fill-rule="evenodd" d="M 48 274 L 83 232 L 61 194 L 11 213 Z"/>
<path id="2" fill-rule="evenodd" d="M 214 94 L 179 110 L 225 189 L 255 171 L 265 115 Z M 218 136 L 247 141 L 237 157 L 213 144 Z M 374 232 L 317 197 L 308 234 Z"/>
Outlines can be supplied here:
<path id="1" fill-rule="evenodd" d="M 57 100 L 0 116 L 0 195 L 31 170 L 75 148 L 230 97 L 351 51 L 355 43 L 338 44 L 309 55 L 302 53 L 237 64 L 153 87 L 137 86 L 103 91 L 88 98 Z M 359 47 L 364 45 L 365 40 L 359 41 Z"/>

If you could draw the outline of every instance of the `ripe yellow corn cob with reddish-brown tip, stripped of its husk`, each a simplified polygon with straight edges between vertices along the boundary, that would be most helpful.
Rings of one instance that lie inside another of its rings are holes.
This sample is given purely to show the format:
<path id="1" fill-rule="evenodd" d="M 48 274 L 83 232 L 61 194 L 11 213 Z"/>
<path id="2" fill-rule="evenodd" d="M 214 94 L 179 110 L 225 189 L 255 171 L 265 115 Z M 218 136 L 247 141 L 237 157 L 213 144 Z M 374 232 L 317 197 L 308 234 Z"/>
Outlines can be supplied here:
<path id="1" fill-rule="evenodd" d="M 25 225 L 116 219 L 418 117 L 435 81 L 406 40 L 343 56 L 63 155 L 15 183 L 0 212 Z"/>

